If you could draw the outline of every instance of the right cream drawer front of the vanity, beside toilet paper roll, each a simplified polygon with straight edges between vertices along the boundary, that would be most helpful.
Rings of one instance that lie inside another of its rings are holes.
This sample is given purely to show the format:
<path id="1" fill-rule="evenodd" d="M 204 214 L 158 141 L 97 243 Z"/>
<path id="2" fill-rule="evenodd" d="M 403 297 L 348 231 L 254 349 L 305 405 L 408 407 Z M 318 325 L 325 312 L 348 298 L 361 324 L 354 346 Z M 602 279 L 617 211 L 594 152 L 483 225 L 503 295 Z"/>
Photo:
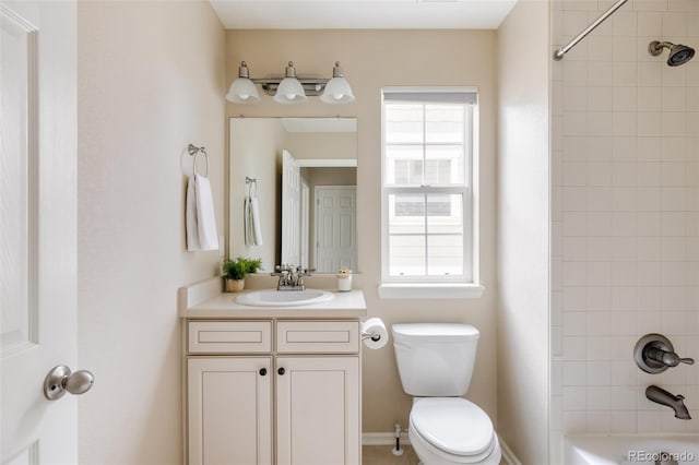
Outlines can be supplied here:
<path id="1" fill-rule="evenodd" d="M 358 321 L 277 321 L 276 351 L 341 354 L 359 351 Z"/>

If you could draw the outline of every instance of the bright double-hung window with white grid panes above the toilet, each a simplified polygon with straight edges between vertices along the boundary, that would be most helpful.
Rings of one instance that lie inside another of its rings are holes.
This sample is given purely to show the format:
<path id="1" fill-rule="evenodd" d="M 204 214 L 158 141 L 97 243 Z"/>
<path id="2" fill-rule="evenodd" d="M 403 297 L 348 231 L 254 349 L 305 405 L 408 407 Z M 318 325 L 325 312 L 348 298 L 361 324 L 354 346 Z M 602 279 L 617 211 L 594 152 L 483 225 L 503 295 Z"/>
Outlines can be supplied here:
<path id="1" fill-rule="evenodd" d="M 474 283 L 476 93 L 383 91 L 382 281 Z"/>

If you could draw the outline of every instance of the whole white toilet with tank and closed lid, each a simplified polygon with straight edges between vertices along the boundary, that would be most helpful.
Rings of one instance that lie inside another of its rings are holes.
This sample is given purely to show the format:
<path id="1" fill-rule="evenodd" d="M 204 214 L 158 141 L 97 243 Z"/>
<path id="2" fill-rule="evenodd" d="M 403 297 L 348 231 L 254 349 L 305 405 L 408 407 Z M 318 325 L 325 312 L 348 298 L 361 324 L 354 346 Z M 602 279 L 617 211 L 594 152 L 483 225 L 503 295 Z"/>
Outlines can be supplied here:
<path id="1" fill-rule="evenodd" d="M 469 391 L 478 330 L 469 324 L 392 326 L 403 391 L 412 395 L 408 437 L 424 465 L 498 465 L 501 452 L 488 415 L 460 397 Z"/>

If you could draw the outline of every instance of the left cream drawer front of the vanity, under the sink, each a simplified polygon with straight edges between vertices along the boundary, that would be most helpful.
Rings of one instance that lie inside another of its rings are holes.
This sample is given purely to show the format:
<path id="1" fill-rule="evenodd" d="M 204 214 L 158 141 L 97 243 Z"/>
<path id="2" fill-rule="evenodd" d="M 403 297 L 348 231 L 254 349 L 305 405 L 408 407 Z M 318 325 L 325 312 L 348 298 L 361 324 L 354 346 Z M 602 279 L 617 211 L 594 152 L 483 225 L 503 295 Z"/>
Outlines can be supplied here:
<path id="1" fill-rule="evenodd" d="M 271 321 L 190 321 L 190 354 L 272 351 Z"/>

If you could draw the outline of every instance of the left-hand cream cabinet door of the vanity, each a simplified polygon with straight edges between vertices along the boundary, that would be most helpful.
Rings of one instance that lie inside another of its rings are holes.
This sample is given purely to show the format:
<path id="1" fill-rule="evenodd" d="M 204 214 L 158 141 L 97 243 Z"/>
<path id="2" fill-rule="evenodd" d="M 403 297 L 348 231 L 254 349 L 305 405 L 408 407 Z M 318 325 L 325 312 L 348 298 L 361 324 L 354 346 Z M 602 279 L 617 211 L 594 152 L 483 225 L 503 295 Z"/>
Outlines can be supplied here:
<path id="1" fill-rule="evenodd" d="M 271 357 L 190 358 L 190 465 L 272 464 Z"/>

